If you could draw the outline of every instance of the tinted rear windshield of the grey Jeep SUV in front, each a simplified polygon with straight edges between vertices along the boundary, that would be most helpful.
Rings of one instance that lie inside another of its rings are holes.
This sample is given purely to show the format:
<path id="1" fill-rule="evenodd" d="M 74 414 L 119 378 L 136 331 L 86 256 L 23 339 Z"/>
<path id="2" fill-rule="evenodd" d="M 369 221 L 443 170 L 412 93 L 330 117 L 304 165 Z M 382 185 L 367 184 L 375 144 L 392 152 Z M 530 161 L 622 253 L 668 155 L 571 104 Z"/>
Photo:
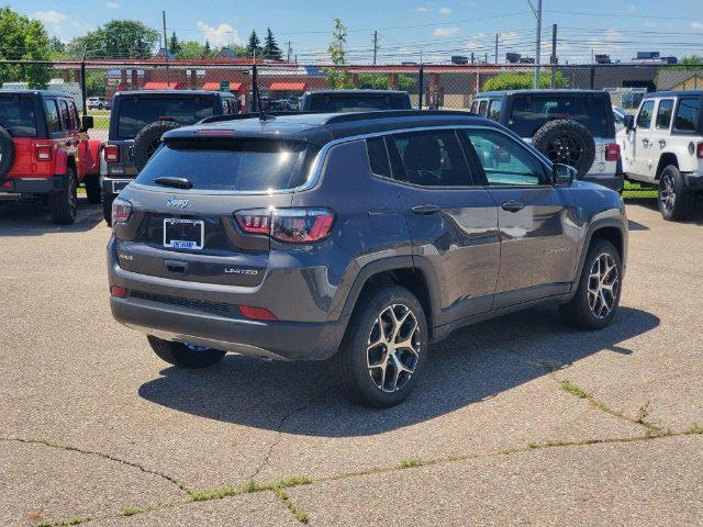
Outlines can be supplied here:
<path id="1" fill-rule="evenodd" d="M 305 181 L 317 148 L 280 139 L 172 138 L 142 169 L 136 181 L 158 186 L 159 177 L 186 178 L 193 190 L 276 191 Z"/>

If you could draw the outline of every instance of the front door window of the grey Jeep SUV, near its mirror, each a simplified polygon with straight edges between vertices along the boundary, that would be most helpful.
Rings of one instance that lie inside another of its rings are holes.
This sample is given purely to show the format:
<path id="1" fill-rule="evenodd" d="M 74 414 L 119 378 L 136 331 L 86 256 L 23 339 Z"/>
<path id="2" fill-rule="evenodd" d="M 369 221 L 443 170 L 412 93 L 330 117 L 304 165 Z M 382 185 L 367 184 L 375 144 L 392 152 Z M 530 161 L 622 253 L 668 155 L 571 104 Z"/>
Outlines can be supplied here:
<path id="1" fill-rule="evenodd" d="M 527 148 L 491 130 L 462 130 L 476 150 L 489 184 L 545 184 L 542 164 Z"/>

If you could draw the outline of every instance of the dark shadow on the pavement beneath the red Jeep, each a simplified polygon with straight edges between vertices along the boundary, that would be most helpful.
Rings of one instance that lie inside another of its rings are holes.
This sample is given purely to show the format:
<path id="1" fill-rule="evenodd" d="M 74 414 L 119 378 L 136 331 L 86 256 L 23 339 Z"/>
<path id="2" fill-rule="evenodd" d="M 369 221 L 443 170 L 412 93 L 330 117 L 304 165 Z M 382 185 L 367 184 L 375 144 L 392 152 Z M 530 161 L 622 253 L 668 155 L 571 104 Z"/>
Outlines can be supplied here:
<path id="1" fill-rule="evenodd" d="M 54 225 L 48 209 L 41 203 L 0 201 L 0 237 L 43 236 L 49 233 L 82 233 L 96 227 L 102 217 L 102 206 L 78 198 L 78 217 L 72 225 Z"/>

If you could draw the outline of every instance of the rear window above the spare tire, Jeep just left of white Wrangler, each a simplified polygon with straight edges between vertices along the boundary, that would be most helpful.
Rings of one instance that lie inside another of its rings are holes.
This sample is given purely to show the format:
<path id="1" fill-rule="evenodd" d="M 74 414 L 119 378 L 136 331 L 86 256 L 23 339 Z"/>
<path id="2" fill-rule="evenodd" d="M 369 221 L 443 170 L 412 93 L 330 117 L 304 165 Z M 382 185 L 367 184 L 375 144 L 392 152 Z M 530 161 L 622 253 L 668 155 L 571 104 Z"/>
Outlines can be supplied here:
<path id="1" fill-rule="evenodd" d="M 592 96 L 516 96 L 510 128 L 521 137 L 532 137 L 549 121 L 569 119 L 584 125 L 594 137 L 611 137 L 607 113 L 610 100 Z"/>

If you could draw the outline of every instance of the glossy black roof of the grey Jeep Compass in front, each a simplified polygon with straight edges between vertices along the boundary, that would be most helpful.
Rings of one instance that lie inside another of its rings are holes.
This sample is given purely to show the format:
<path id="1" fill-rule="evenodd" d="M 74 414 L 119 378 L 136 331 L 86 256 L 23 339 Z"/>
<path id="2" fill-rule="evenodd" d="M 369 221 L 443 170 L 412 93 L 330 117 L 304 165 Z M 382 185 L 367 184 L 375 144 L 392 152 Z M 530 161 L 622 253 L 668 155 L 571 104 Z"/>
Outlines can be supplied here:
<path id="1" fill-rule="evenodd" d="M 503 128 L 500 124 L 470 112 L 449 110 L 384 110 L 349 113 L 298 113 L 263 121 L 257 116 L 194 124 L 167 132 L 165 138 L 207 135 L 205 131 L 232 130 L 234 136 L 305 141 L 323 145 L 356 135 L 426 126 L 480 124 Z"/>

